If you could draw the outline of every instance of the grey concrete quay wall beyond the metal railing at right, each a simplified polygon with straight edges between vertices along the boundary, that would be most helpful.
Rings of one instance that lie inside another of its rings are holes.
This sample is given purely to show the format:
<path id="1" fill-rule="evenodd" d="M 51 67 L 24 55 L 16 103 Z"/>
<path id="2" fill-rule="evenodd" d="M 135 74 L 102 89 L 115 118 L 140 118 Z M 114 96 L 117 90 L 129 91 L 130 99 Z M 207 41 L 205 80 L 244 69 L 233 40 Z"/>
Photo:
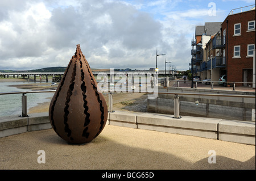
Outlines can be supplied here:
<path id="1" fill-rule="evenodd" d="M 179 87 L 159 88 L 159 92 L 190 92 L 199 94 L 255 95 L 255 92 L 182 89 Z M 196 106 L 195 102 L 199 101 Z M 255 99 L 221 96 L 180 95 L 180 116 L 212 117 L 218 119 L 255 121 L 252 111 Z M 158 94 L 156 99 L 147 100 L 147 112 L 174 114 L 174 95 Z"/>

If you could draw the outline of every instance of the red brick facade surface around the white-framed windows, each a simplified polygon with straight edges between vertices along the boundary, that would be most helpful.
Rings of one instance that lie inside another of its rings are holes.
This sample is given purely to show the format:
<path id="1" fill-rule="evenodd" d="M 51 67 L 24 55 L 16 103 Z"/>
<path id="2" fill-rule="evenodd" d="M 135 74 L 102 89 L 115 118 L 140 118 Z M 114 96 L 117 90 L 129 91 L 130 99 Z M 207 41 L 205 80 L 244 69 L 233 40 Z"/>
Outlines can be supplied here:
<path id="1" fill-rule="evenodd" d="M 228 28 L 226 20 L 228 19 Z M 222 23 L 222 33 L 226 29 L 226 70 L 228 82 L 243 82 L 243 69 L 253 68 L 253 57 L 246 58 L 247 45 L 255 44 L 255 31 L 246 32 L 248 22 L 255 20 L 255 10 L 229 15 Z M 234 35 L 234 24 L 241 23 L 241 36 Z M 227 40 L 228 39 L 228 40 Z M 232 58 L 234 46 L 240 45 L 240 57 Z M 228 49 L 228 50 L 227 50 Z"/>

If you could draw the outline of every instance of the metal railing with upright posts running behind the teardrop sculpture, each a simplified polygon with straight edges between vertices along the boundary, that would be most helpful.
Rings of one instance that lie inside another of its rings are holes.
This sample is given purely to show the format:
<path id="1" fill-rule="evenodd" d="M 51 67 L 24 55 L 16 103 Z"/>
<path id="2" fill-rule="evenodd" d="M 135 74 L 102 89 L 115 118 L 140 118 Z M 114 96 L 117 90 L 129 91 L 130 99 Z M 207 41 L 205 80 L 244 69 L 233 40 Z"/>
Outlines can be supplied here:
<path id="1" fill-rule="evenodd" d="M 27 115 L 27 96 L 26 94 L 31 93 L 42 93 L 42 92 L 55 92 L 56 90 L 41 90 L 41 91 L 19 91 L 19 92 L 0 92 L 0 95 L 10 95 L 10 94 L 22 94 L 22 115 L 20 117 L 28 117 Z M 108 91 L 108 103 L 109 103 L 109 112 L 113 112 L 113 92 L 112 90 L 101 90 Z M 106 92 L 105 92 L 106 93 Z M 132 93 L 132 92 L 130 92 Z M 145 92 L 143 92 L 145 93 Z M 151 93 L 147 93 L 150 95 Z M 254 98 L 255 95 L 232 95 L 232 94 L 200 94 L 200 93 L 185 93 L 185 92 L 158 92 L 158 94 L 172 94 L 175 95 L 174 98 L 174 118 L 180 117 L 180 101 L 179 95 L 199 95 L 199 96 L 224 96 L 224 97 L 233 97 L 233 98 Z"/>

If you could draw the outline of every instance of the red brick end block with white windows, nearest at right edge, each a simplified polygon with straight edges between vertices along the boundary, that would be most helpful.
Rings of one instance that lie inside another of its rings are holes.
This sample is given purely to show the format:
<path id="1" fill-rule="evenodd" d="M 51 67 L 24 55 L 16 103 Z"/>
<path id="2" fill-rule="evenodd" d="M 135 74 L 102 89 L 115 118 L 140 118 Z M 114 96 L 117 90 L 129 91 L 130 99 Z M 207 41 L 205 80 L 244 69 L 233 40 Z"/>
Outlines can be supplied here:
<path id="1" fill-rule="evenodd" d="M 227 75 L 227 82 L 253 82 L 255 6 L 248 11 L 239 10 L 238 13 L 232 10 L 221 24 L 226 57 L 226 68 L 221 74 Z M 243 83 L 243 86 L 247 86 L 247 83 Z"/>

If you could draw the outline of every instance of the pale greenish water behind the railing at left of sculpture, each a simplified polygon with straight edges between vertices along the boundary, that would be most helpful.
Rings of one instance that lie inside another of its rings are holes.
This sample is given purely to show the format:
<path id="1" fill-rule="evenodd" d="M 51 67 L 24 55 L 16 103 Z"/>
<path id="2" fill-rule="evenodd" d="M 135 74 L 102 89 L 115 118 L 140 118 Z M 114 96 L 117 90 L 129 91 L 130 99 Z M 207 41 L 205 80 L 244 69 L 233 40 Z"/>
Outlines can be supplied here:
<path id="1" fill-rule="evenodd" d="M 31 91 L 30 89 L 18 89 L 9 87 L 10 85 L 26 84 L 27 82 L 0 82 L 0 92 Z M 30 82 L 31 83 L 31 82 Z M 38 103 L 50 102 L 53 92 L 28 93 L 27 110 L 35 107 Z M 22 94 L 0 95 L 0 116 L 21 115 L 22 114 Z"/>

